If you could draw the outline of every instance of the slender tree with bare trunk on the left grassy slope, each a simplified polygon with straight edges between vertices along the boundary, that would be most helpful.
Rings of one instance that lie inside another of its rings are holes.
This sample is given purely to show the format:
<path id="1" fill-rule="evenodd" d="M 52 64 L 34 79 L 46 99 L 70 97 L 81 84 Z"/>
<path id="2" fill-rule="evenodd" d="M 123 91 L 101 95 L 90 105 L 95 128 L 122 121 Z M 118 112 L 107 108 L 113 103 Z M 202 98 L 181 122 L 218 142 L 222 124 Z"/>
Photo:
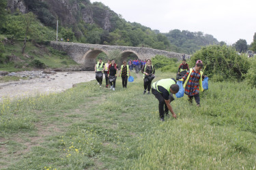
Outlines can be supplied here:
<path id="1" fill-rule="evenodd" d="M 25 53 L 26 43 L 27 43 L 27 35 L 31 34 L 31 25 L 35 22 L 35 15 L 33 12 L 29 12 L 28 14 L 23 15 L 23 24 L 25 29 L 25 38 L 24 44 L 22 48 L 22 54 Z"/>

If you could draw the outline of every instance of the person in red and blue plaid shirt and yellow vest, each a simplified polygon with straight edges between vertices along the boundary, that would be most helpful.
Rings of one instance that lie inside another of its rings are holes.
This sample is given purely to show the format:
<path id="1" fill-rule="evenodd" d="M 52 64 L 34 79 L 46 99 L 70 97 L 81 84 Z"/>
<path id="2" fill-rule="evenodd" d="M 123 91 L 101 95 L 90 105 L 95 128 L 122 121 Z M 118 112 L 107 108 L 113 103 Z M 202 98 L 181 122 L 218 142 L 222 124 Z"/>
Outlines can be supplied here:
<path id="1" fill-rule="evenodd" d="M 184 93 L 188 95 L 188 102 L 192 105 L 193 98 L 195 98 L 197 107 L 200 107 L 199 91 L 203 92 L 203 78 L 207 78 L 206 75 L 203 75 L 202 68 L 203 63 L 198 61 L 195 67 L 187 71 L 183 78 L 180 79 L 180 81 L 186 80 L 184 83 Z"/>

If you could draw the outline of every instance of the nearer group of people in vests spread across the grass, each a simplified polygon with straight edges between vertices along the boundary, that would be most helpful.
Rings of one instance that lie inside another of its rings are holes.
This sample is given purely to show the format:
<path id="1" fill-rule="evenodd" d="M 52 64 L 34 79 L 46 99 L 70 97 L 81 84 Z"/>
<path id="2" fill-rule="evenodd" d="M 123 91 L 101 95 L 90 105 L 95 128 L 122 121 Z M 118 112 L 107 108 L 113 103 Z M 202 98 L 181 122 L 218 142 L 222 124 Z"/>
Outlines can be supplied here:
<path id="1" fill-rule="evenodd" d="M 122 77 L 122 86 L 123 88 L 127 88 L 127 80 L 128 76 L 130 76 L 130 61 L 128 65 L 126 61 L 123 61 L 123 65 L 119 71 L 119 76 Z M 189 69 L 188 64 L 186 63 L 186 59 L 182 60 L 182 64 L 179 66 L 177 71 L 178 74 L 182 73 L 182 78 L 179 81 L 184 82 L 184 93 L 188 96 L 188 101 L 190 104 L 193 103 L 193 98 L 197 103 L 197 106 L 200 106 L 200 97 L 199 91 L 203 91 L 203 79 L 207 77 L 203 75 L 201 71 L 203 69 L 203 63 L 201 60 L 197 61 L 195 67 Z M 118 67 L 115 64 L 115 60 L 109 60 L 108 63 L 103 63 L 102 59 L 98 61 L 95 65 L 96 71 L 96 80 L 98 84 L 102 85 L 103 76 L 97 76 L 97 73 L 104 72 L 106 78 L 106 88 L 108 88 L 110 84 L 110 89 L 115 90 L 115 81 L 117 78 Z M 152 61 L 150 59 L 146 60 L 145 65 L 141 68 L 141 73 L 143 73 L 143 84 L 144 91 L 143 95 L 147 92 L 150 94 L 150 90 L 152 89 L 152 94 L 158 99 L 158 110 L 160 120 L 165 121 L 165 116 L 169 116 L 169 111 L 171 112 L 173 118 L 176 118 L 176 114 L 171 107 L 171 101 L 174 100 L 173 94 L 175 95 L 180 87 L 177 85 L 177 81 L 174 78 L 167 78 L 158 80 L 152 84 L 152 80 L 154 80 L 155 69 L 152 65 Z"/>

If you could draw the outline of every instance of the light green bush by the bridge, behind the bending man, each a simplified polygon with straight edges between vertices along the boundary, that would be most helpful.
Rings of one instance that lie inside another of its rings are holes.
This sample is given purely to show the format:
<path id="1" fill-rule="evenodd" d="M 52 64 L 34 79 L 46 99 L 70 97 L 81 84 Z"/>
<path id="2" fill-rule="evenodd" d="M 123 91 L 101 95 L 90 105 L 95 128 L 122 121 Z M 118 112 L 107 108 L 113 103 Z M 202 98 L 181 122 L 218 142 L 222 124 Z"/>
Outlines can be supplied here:
<path id="1" fill-rule="evenodd" d="M 156 55 L 152 58 L 152 65 L 154 69 L 160 71 L 177 72 L 177 58 L 167 58 L 167 56 Z"/>

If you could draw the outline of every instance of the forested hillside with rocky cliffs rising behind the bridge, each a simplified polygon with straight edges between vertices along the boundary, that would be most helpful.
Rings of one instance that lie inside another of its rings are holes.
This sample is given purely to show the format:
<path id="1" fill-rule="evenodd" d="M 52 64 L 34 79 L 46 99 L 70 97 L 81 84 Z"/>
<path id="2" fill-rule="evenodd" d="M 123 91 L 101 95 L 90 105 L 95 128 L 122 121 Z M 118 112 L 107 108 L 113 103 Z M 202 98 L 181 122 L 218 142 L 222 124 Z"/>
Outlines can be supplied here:
<path id="1" fill-rule="evenodd" d="M 89 44 L 145 46 L 186 54 L 192 54 L 200 46 L 218 44 L 212 35 L 203 35 L 200 31 L 193 33 L 175 29 L 169 33 L 160 33 L 137 22 L 127 22 L 106 5 L 91 3 L 89 0 L 8 0 L 8 17 L 0 31 L 14 38 L 24 38 L 24 31 L 20 29 L 20 34 L 17 33 L 13 23 L 16 23 L 15 18 L 33 12 L 36 18 L 51 30 L 37 31 L 41 33 L 42 40 L 55 40 L 54 30 L 59 20 L 58 37 L 59 40 L 63 38 L 63 41 L 69 39 Z M 35 34 L 33 37 L 31 34 L 29 38 L 38 39 L 38 36 Z"/>

